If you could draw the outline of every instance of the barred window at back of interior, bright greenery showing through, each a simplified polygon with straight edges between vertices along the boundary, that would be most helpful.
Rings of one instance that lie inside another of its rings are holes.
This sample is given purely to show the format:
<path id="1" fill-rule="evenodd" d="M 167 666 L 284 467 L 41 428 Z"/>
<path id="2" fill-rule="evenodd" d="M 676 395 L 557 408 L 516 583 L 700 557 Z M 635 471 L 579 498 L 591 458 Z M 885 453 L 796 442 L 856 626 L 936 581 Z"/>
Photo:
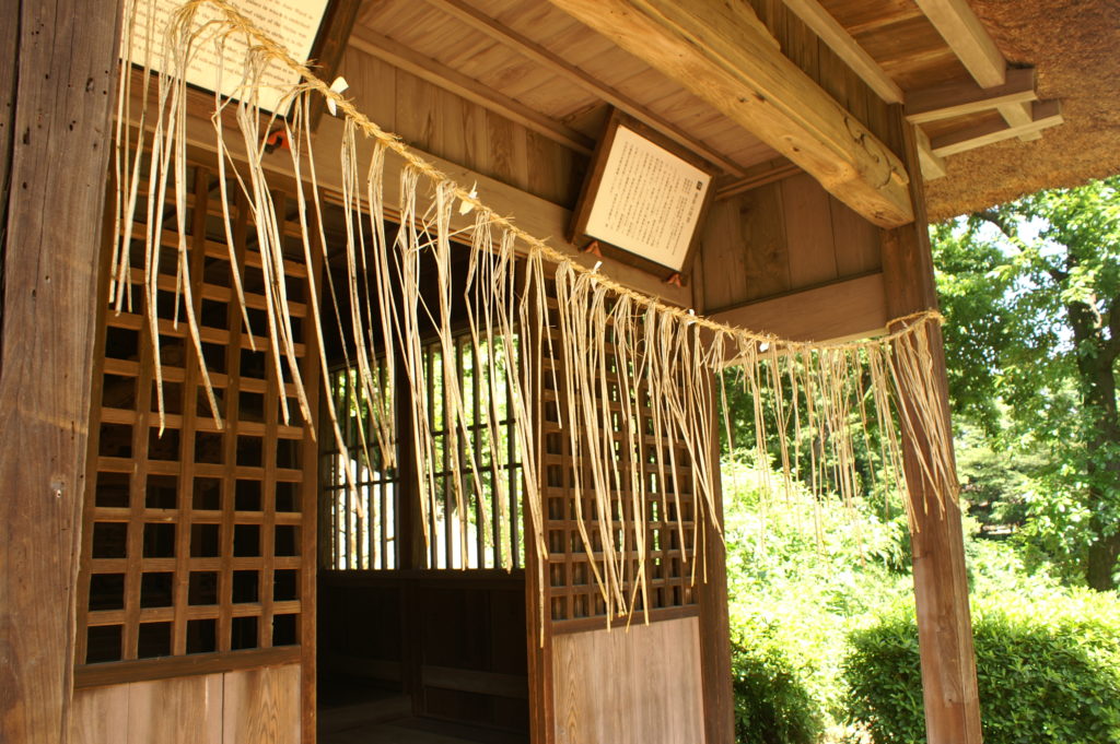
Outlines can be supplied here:
<path id="1" fill-rule="evenodd" d="M 423 347 L 428 421 L 436 455 L 430 467 L 437 483 L 436 507 L 428 515 L 427 568 L 501 568 L 506 557 L 513 568 L 524 565 L 521 535 L 524 489 L 508 405 L 506 375 L 510 365 L 498 346 L 495 342 L 491 347 L 480 339 L 476 349 L 469 333 L 455 338 L 449 374 L 463 382 L 468 434 L 456 443 L 465 490 L 464 515 L 459 515 L 454 495 L 455 471 L 446 425 L 448 406 L 442 390 L 444 352 L 438 342 Z M 488 364 L 492 354 L 495 355 L 496 373 L 493 379 Z M 382 365 L 383 360 L 379 360 L 373 377 L 381 387 L 381 395 L 391 399 Z M 324 526 L 329 540 L 329 546 L 325 546 L 325 565 L 335 571 L 395 568 L 399 566 L 399 515 L 394 499 L 418 498 L 414 493 L 399 493 L 399 470 L 414 465 L 401 462 L 399 468 L 385 468 L 381 463 L 370 433 L 366 393 L 356 369 L 335 370 L 332 393 L 343 439 L 356 465 L 357 488 L 347 488 L 339 451 L 324 434 L 323 490 L 327 505 Z M 401 436 L 410 436 L 408 425 L 408 421 L 401 422 Z M 498 444 L 496 453 L 489 444 L 491 426 Z M 467 465 L 472 460 L 477 465 L 477 481 Z M 417 538 L 422 539 L 421 536 Z"/>

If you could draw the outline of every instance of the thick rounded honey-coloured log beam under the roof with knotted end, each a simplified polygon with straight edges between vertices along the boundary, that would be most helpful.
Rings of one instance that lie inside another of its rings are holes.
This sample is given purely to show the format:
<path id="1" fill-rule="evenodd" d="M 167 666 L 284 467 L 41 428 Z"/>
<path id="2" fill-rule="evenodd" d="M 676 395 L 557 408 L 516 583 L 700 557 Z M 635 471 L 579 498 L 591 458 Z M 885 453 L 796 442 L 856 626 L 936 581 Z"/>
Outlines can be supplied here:
<path id="1" fill-rule="evenodd" d="M 756 134 L 876 225 L 914 218 L 902 161 L 782 54 L 747 3 L 551 2 Z"/>

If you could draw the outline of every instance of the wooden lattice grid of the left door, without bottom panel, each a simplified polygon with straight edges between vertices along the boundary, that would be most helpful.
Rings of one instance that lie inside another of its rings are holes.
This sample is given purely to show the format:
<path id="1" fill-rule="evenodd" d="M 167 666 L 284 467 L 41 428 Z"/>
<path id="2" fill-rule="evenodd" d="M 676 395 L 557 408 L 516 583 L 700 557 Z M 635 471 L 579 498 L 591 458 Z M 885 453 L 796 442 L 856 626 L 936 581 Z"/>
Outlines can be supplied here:
<path id="1" fill-rule="evenodd" d="M 130 311 L 103 311 L 90 420 L 76 662 L 129 661 L 298 644 L 308 592 L 316 444 L 300 420 L 291 375 L 278 379 L 264 321 L 255 233 L 235 205 L 236 261 L 254 351 L 232 286 L 216 179 L 189 172 L 189 262 L 202 349 L 225 428 L 206 402 L 177 295 L 174 207 L 165 209 L 159 348 L 166 431 L 159 432 L 155 364 L 143 316 L 142 242 L 133 241 Z M 274 194 L 278 214 L 293 206 Z M 147 213 L 142 205 L 137 214 Z M 146 229 L 133 226 L 133 235 Z M 298 226 L 289 246 L 302 255 Z M 139 247 L 138 247 L 139 246 Z M 295 255 L 295 254 L 292 254 Z M 105 265 L 108 265 L 108 261 Z M 288 299 L 301 374 L 318 389 L 307 323 L 307 271 L 288 261 Z M 104 296 L 104 295 L 103 295 Z M 176 305 L 178 304 L 178 323 Z M 280 409 L 287 397 L 291 412 Z M 312 403 L 314 405 L 314 403 Z"/>

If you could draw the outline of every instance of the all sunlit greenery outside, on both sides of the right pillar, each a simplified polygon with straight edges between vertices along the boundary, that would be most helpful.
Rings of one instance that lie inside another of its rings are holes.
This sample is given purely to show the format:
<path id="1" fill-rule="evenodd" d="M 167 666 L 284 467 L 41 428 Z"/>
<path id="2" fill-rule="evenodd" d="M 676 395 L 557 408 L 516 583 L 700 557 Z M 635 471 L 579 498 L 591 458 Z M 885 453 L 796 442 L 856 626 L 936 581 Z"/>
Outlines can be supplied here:
<path id="1" fill-rule="evenodd" d="M 1120 743 L 1118 189 L 931 230 L 989 744 Z M 772 465 L 724 462 L 738 741 L 924 742 L 899 505 L 769 495 Z"/>

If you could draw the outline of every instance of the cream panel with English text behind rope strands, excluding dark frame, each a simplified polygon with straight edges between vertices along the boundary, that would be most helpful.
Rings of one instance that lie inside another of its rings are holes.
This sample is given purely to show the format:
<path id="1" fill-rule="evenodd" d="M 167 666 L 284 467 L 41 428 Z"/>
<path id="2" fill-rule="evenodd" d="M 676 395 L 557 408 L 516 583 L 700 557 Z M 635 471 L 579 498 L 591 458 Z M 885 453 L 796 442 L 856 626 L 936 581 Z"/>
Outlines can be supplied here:
<path id="1" fill-rule="evenodd" d="M 326 12 L 327 2 L 328 0 L 233 0 L 232 4 L 261 31 L 283 46 L 292 57 L 300 62 L 307 62 L 311 54 L 311 46 L 315 44 L 315 37 L 319 31 L 323 15 Z M 137 18 L 136 31 L 132 37 L 132 62 L 142 65 L 146 54 L 150 54 L 149 66 L 152 69 L 160 69 L 164 64 L 164 38 L 167 21 L 181 4 L 181 0 L 139 0 L 136 3 Z M 151 19 L 152 9 L 156 13 L 153 22 Z M 212 6 L 203 4 L 195 16 L 195 27 L 221 17 L 221 11 Z M 148 46 L 149 36 L 151 37 L 150 47 Z M 203 38 L 207 37 L 208 35 L 204 34 Z M 242 69 L 245 53 L 244 35 L 235 34 L 227 37 L 224 68 L 220 68 L 223 59 L 218 58 L 217 51 L 213 41 L 205 41 L 197 47 L 193 63 L 187 70 L 187 83 L 207 91 L 215 91 L 221 79 L 221 93 L 233 95 L 242 81 L 242 75 L 244 75 Z M 260 92 L 260 104 L 263 109 L 276 111 L 283 93 L 299 83 L 299 75 L 286 66 L 272 64 L 265 70 L 263 82 L 265 87 Z"/>

